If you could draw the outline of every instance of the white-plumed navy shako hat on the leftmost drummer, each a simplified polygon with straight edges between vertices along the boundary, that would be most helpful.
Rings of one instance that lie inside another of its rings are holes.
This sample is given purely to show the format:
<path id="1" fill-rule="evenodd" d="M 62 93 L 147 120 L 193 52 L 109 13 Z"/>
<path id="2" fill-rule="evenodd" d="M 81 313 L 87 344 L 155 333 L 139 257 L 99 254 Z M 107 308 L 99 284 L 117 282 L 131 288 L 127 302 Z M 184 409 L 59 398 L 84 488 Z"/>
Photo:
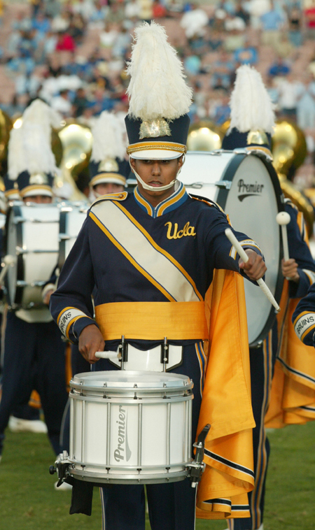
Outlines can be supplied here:
<path id="1" fill-rule="evenodd" d="M 8 180 L 15 189 L 18 182 L 22 199 L 32 195 L 52 196 L 58 169 L 51 149 L 51 128 L 59 127 L 60 121 L 55 110 L 36 99 L 23 113 L 21 127 L 10 131 Z"/>

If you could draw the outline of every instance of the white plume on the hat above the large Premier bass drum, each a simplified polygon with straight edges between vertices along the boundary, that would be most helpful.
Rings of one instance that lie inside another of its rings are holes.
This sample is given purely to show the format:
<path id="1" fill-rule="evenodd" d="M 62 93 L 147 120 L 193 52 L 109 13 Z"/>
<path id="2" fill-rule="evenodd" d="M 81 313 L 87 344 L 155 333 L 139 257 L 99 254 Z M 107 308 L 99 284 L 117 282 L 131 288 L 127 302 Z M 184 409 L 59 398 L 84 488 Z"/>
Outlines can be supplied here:
<path id="1" fill-rule="evenodd" d="M 262 81 L 260 73 L 244 64 L 237 69 L 235 87 L 230 99 L 231 124 L 240 132 L 274 129 L 274 104 Z"/>

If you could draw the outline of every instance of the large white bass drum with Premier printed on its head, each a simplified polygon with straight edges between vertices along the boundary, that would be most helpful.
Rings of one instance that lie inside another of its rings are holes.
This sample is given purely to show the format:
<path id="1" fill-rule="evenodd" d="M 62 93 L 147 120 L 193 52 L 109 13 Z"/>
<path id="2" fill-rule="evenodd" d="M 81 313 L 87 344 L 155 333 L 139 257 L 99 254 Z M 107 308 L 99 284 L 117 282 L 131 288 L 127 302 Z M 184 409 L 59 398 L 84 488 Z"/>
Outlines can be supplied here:
<path id="1" fill-rule="evenodd" d="M 265 282 L 279 303 L 281 231 L 276 214 L 283 210 L 281 187 L 270 158 L 260 150 L 188 152 L 180 180 L 189 194 L 218 203 L 232 226 L 253 238 L 265 256 Z M 259 345 L 275 320 L 274 308 L 261 289 L 244 282 L 248 343 Z"/>

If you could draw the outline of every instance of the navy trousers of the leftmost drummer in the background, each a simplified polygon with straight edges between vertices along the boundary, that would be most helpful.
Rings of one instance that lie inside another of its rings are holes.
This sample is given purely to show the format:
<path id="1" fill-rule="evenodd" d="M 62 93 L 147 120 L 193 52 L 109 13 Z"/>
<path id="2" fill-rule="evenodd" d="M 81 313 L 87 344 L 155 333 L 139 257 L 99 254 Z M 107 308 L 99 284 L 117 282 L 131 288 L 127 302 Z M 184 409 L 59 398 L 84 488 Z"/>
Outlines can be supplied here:
<path id="1" fill-rule="evenodd" d="M 64 343 L 55 322 L 29 324 L 8 313 L 4 343 L 0 452 L 10 414 L 27 403 L 33 389 L 41 396 L 48 437 L 55 453 L 66 393 Z"/>

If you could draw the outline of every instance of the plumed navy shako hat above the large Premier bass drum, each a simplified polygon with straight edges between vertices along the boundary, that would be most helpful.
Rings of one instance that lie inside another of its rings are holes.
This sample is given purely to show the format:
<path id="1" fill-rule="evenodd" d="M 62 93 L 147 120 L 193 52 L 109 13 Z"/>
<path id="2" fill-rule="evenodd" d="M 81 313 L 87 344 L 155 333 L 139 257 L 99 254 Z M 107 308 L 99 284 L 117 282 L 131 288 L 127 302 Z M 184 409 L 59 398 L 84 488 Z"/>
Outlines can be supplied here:
<path id="1" fill-rule="evenodd" d="M 222 148 L 261 148 L 270 150 L 274 129 L 274 105 L 260 73 L 244 64 L 236 72 L 230 99 L 231 123 Z"/>

